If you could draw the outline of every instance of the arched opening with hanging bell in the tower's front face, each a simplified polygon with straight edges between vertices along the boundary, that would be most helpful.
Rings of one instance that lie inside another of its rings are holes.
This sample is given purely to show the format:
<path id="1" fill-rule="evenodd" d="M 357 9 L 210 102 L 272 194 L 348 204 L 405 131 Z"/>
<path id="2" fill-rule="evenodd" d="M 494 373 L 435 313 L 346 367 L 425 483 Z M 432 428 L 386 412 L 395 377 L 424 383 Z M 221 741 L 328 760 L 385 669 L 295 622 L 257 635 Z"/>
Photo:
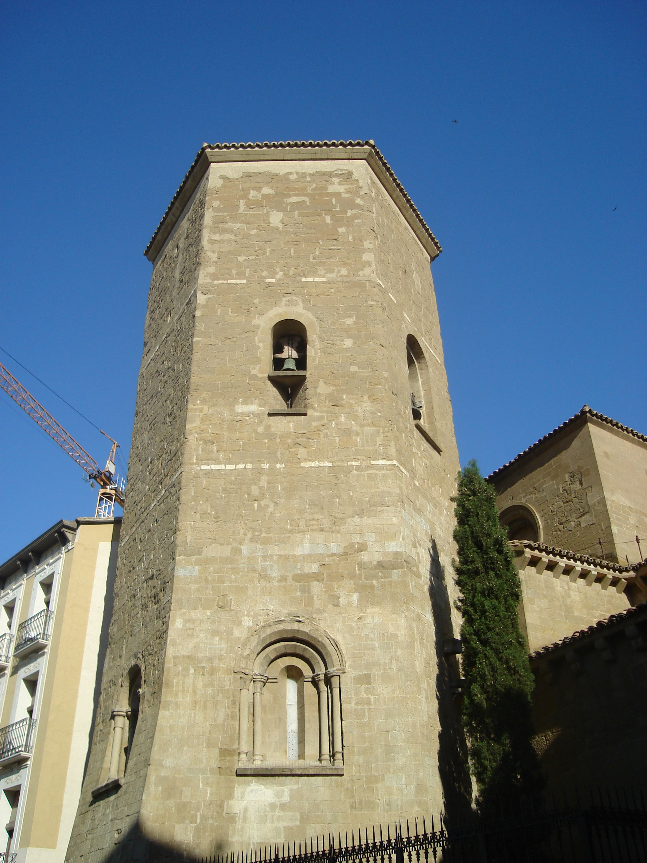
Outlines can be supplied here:
<path id="1" fill-rule="evenodd" d="M 287 318 L 272 329 L 272 366 L 268 375 L 280 394 L 280 408 L 305 410 L 305 381 L 308 363 L 308 334 L 304 324 Z"/>

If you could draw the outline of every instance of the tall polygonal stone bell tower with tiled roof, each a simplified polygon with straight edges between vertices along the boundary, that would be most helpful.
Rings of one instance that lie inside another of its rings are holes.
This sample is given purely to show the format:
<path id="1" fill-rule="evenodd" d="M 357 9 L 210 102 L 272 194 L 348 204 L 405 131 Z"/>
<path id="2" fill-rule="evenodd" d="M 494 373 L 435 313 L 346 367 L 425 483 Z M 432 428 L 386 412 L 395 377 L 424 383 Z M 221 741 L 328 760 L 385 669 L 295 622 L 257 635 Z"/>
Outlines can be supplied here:
<path id="1" fill-rule="evenodd" d="M 439 252 L 373 142 L 199 151 L 146 250 L 115 611 L 68 860 L 442 808 L 459 463 Z"/>

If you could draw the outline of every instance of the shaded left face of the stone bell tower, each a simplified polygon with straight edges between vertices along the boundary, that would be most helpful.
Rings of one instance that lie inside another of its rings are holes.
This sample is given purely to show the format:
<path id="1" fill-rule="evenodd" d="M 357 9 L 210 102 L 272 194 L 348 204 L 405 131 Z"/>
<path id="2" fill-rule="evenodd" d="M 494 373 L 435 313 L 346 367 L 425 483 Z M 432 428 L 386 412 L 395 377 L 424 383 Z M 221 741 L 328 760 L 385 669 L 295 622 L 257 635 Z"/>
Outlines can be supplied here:
<path id="1" fill-rule="evenodd" d="M 107 860 L 136 834 L 154 740 L 171 608 L 185 435 L 186 399 L 206 184 L 154 268 L 130 450 L 115 603 L 91 755 L 67 860 Z M 93 799 L 106 778 L 110 715 L 123 701 L 128 672 L 143 677 L 140 720 L 123 786 Z M 131 847 L 123 860 L 140 859 Z M 146 858 L 148 859 L 148 858 Z"/>

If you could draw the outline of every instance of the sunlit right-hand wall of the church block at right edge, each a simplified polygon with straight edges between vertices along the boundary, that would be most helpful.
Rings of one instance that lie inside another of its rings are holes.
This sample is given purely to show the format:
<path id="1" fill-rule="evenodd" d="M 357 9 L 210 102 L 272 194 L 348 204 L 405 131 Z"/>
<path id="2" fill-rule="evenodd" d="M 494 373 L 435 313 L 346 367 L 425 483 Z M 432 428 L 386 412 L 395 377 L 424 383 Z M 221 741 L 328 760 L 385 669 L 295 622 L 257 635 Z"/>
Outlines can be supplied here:
<path id="1" fill-rule="evenodd" d="M 647 554 L 647 443 L 591 419 L 589 432 L 611 520 L 619 563 L 640 561 L 636 537 Z M 626 555 L 626 557 L 625 557 Z"/>

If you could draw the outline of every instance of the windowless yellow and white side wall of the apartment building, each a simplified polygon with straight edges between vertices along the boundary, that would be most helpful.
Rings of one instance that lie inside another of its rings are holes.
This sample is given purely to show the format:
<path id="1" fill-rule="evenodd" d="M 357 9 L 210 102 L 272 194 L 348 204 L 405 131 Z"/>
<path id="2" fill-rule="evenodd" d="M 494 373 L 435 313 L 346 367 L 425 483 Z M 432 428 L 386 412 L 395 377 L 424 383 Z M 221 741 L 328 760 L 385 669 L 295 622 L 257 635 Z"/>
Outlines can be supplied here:
<path id="1" fill-rule="evenodd" d="M 110 619 L 119 522 L 81 524 L 66 555 L 29 764 L 18 849 L 24 860 L 64 859 L 79 802 Z"/>

